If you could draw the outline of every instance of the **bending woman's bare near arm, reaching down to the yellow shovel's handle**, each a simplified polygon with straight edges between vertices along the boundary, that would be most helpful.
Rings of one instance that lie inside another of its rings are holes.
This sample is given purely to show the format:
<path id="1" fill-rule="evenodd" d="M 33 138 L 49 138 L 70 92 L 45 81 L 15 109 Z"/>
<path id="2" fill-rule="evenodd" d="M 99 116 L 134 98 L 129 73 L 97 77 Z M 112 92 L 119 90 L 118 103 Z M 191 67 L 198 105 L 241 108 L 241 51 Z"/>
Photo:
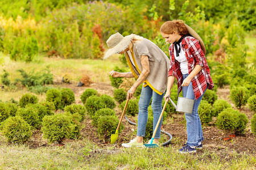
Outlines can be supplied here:
<path id="1" fill-rule="evenodd" d="M 131 99 L 137 87 L 144 82 L 147 78 L 147 75 L 150 73 L 150 66 L 148 61 L 148 56 L 141 56 L 141 65 L 142 65 L 142 72 L 139 75 L 137 81 L 133 84 L 133 86 L 128 90 L 126 99 Z"/>

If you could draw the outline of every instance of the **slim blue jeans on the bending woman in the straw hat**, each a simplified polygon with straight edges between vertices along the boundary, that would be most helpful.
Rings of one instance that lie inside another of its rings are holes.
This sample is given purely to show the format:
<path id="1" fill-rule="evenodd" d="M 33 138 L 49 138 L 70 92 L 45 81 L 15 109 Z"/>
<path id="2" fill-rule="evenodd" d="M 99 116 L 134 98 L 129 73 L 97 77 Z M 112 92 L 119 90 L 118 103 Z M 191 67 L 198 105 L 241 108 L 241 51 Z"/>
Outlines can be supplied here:
<path id="1" fill-rule="evenodd" d="M 162 101 L 163 96 L 157 94 L 152 90 L 150 86 L 142 87 L 141 90 L 141 97 L 139 98 L 139 114 L 138 114 L 138 128 L 137 128 L 137 136 L 139 137 L 145 137 L 146 132 L 146 125 L 147 125 L 147 117 L 148 117 L 148 105 L 150 104 L 150 100 L 152 97 L 152 110 L 153 110 L 153 131 L 155 130 L 155 126 L 158 122 L 159 116 L 162 112 Z M 161 125 L 162 120 L 160 121 L 160 124 L 158 126 L 158 129 L 156 130 L 155 139 L 160 138 L 161 133 Z"/>

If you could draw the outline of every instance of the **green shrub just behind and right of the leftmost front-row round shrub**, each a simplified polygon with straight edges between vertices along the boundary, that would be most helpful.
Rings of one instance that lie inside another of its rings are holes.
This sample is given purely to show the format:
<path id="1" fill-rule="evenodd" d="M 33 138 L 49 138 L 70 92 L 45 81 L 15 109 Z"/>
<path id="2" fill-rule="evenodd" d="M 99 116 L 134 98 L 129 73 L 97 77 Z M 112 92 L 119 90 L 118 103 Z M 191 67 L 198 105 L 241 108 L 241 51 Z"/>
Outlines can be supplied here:
<path id="1" fill-rule="evenodd" d="M 38 108 L 34 107 L 33 105 L 28 105 L 26 108 L 20 108 L 16 112 L 16 115 L 22 117 L 23 120 L 33 128 L 40 128 L 41 121 L 38 115 Z"/>

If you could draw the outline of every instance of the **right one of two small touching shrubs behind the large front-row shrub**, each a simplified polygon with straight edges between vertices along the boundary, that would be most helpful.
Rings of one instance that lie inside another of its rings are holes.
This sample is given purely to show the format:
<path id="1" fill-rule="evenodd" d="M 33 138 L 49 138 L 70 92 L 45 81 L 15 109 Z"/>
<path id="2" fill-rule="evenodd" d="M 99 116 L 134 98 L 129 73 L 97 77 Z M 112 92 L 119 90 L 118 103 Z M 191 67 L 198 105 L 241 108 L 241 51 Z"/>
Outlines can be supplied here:
<path id="1" fill-rule="evenodd" d="M 70 88 L 61 88 L 61 104 L 60 108 L 63 109 L 66 105 L 71 105 L 75 102 L 75 94 Z"/>

